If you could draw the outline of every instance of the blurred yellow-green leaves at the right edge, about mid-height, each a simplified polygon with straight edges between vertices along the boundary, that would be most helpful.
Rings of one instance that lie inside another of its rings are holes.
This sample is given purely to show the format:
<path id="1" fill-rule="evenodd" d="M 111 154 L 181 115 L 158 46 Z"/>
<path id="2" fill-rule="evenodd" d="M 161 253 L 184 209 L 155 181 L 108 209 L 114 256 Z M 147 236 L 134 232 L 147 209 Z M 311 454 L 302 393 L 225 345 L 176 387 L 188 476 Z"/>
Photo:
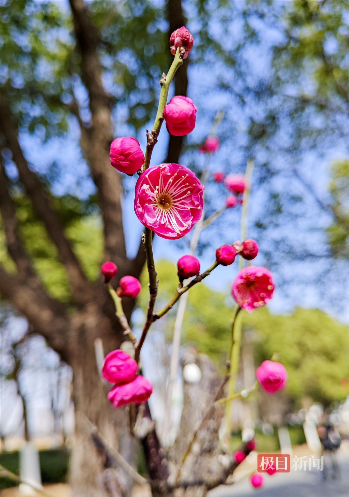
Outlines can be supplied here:
<path id="1" fill-rule="evenodd" d="M 332 165 L 330 193 L 335 222 L 327 229 L 328 241 L 335 257 L 349 257 L 349 161 Z"/>

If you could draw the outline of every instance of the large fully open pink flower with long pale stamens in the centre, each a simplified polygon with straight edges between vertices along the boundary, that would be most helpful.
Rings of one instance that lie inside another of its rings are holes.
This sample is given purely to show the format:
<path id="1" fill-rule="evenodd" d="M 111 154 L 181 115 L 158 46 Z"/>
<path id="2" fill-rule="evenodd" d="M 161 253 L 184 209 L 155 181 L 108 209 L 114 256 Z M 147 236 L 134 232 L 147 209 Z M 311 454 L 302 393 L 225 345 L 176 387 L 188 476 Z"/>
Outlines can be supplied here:
<path id="1" fill-rule="evenodd" d="M 184 237 L 203 214 L 204 186 L 188 167 L 160 164 L 138 178 L 135 212 L 140 222 L 159 237 Z"/>

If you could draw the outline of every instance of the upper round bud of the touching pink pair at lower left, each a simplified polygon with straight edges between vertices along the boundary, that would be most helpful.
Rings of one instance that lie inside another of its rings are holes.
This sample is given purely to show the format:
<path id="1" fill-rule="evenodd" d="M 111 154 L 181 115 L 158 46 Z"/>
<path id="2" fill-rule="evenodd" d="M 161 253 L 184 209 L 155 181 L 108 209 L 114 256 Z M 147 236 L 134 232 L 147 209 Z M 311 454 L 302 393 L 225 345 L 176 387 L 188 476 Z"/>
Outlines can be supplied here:
<path id="1" fill-rule="evenodd" d="M 110 383 L 132 381 L 136 373 L 137 362 L 123 350 L 113 350 L 105 356 L 102 374 Z"/>

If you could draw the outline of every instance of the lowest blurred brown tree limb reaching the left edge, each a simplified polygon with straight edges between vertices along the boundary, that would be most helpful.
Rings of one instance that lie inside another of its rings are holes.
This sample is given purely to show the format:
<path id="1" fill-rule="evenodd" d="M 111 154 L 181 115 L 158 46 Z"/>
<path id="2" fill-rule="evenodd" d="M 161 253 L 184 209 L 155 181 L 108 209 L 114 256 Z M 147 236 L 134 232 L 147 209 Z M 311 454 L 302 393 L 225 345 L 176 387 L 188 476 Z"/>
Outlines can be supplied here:
<path id="1" fill-rule="evenodd" d="M 61 303 L 32 288 L 27 279 L 11 276 L 1 266 L 0 293 L 27 318 L 36 332 L 47 339 L 52 348 L 57 352 L 64 351 L 69 320 Z"/>

